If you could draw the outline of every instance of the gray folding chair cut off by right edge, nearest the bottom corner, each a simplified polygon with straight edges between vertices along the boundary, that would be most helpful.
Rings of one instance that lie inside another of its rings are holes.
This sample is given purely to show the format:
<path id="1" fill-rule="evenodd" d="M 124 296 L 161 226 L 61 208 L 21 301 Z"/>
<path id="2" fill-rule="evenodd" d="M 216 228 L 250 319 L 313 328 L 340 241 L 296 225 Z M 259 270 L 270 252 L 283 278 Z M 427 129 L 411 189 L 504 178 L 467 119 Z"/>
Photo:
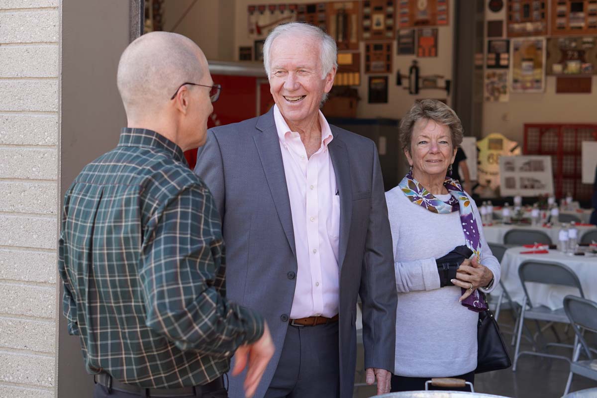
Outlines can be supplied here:
<path id="1" fill-rule="evenodd" d="M 570 320 L 570 324 L 576 334 L 577 344 L 574 346 L 574 354 L 572 362 L 570 363 L 570 374 L 568 375 L 568 382 L 566 383 L 566 390 L 564 394 L 568 394 L 570 384 L 572 383 L 572 375 L 577 374 L 593 380 L 597 380 L 597 366 L 593 368 L 593 354 L 595 351 L 589 347 L 584 339 L 584 331 L 597 333 L 597 303 L 595 301 L 586 300 L 572 295 L 564 297 L 564 311 Z M 581 348 L 584 349 L 588 360 L 578 360 Z M 596 394 L 597 395 L 597 394 Z"/>

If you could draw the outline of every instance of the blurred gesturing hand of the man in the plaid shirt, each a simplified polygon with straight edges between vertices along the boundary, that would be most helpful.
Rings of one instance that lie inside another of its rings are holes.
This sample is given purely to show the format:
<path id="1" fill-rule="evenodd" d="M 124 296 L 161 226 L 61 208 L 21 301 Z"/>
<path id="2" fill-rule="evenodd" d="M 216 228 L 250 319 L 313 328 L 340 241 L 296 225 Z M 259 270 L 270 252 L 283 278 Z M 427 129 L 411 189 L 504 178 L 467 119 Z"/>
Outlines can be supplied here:
<path id="1" fill-rule="evenodd" d="M 255 343 L 250 345 L 241 345 L 236 350 L 236 360 L 232 375 L 236 376 L 247 366 L 247 377 L 245 377 L 245 395 L 250 398 L 255 394 L 257 385 L 265 372 L 267 363 L 273 356 L 272 335 L 269 334 L 267 323 L 264 325 L 263 335 Z"/>

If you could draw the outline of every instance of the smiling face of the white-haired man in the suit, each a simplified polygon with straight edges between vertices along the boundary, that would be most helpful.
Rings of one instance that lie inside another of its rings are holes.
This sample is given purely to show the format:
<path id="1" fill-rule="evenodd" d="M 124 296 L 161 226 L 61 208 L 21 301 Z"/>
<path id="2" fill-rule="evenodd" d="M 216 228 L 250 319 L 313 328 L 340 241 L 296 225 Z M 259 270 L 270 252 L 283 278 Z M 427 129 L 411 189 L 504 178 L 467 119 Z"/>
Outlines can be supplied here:
<path id="1" fill-rule="evenodd" d="M 270 48 L 270 92 L 291 128 L 318 120 L 321 98 L 334 84 L 336 69 L 321 78 L 320 51 L 317 39 L 288 35 Z"/>

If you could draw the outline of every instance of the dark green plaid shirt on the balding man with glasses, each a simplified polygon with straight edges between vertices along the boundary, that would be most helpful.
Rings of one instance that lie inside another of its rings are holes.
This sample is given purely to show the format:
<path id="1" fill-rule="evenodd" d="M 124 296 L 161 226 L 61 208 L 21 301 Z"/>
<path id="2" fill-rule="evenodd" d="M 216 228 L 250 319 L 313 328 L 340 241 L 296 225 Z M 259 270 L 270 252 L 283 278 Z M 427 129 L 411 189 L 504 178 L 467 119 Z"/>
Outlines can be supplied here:
<path id="1" fill-rule="evenodd" d="M 263 320 L 226 301 L 224 270 L 216 203 L 162 135 L 123 129 L 67 190 L 63 311 L 88 372 L 177 388 L 228 371 Z"/>

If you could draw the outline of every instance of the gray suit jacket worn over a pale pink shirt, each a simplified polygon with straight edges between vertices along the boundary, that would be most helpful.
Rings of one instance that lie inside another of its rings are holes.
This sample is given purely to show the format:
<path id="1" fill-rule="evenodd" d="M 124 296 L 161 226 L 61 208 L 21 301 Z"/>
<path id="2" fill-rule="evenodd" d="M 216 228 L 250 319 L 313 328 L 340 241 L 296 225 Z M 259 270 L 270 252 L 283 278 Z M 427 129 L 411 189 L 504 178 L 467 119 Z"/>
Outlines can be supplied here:
<path id="1" fill-rule="evenodd" d="M 357 297 L 362 301 L 365 367 L 393 371 L 396 282 L 376 146 L 361 135 L 330 128 L 334 138 L 328 149 L 340 195 L 340 396 L 352 397 Z M 260 311 L 276 346 L 255 395 L 263 397 L 284 344 L 297 272 L 273 110 L 210 129 L 195 172 L 213 193 L 222 218 L 227 297 Z M 243 380 L 230 378 L 230 397 L 244 397 Z"/>

